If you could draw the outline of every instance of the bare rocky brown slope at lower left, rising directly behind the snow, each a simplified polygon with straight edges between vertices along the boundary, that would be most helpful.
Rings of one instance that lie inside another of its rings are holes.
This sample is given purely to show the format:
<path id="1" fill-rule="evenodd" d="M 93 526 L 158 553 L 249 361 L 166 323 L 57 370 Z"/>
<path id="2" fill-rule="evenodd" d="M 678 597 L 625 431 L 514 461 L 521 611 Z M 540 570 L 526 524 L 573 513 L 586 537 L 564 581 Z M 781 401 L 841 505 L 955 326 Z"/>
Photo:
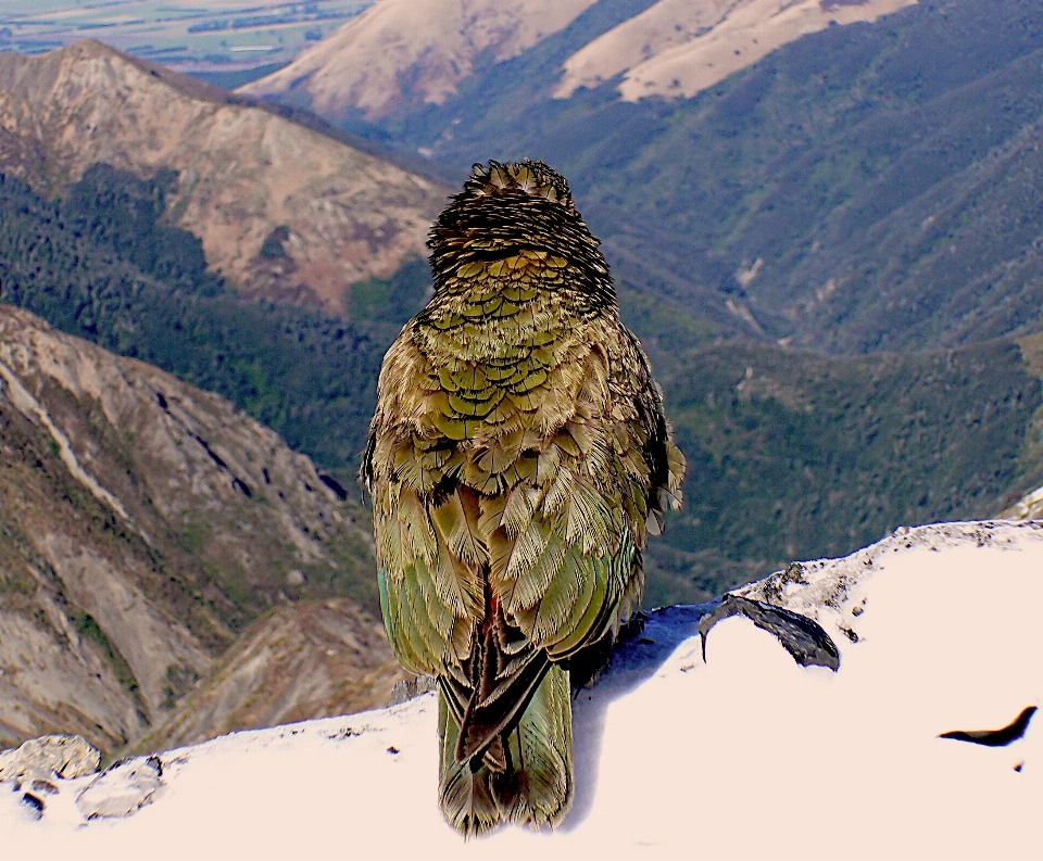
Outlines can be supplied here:
<path id="1" fill-rule="evenodd" d="M 193 692 L 193 738 L 387 701 L 364 514 L 222 397 L 9 306 L 0 499 L 0 747 L 112 751 Z M 265 686 L 287 637 L 293 684 Z"/>

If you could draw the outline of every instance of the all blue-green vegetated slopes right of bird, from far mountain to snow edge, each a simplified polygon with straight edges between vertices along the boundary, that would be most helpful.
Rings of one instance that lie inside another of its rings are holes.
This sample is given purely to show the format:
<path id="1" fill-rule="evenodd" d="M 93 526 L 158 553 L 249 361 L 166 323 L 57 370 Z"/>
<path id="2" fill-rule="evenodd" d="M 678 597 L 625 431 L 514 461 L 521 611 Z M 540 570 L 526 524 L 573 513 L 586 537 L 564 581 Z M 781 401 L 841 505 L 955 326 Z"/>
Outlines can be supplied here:
<path id="1" fill-rule="evenodd" d="M 551 98 L 573 52 L 646 5 L 601 0 L 441 105 L 340 122 L 569 177 L 691 465 L 650 603 L 988 517 L 1043 481 L 1026 338 L 1043 328 L 1043 7 L 922 2 L 692 99 L 623 102 L 618 81 Z M 719 340 L 736 335 L 765 343 Z"/>

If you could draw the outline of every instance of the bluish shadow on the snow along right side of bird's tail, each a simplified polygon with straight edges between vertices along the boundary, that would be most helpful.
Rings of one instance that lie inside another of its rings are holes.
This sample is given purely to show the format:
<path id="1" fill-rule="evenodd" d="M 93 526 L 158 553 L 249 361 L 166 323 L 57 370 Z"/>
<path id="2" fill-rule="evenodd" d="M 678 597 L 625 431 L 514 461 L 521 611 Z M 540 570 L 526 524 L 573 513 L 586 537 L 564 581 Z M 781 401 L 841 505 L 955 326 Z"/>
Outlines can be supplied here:
<path id="1" fill-rule="evenodd" d="M 655 675 L 681 643 L 699 633 L 699 620 L 719 603 L 679 604 L 646 613 L 644 626 L 616 646 L 598 682 L 580 688 L 573 701 L 576 795 L 560 831 L 580 825 L 593 807 L 608 707 Z"/>

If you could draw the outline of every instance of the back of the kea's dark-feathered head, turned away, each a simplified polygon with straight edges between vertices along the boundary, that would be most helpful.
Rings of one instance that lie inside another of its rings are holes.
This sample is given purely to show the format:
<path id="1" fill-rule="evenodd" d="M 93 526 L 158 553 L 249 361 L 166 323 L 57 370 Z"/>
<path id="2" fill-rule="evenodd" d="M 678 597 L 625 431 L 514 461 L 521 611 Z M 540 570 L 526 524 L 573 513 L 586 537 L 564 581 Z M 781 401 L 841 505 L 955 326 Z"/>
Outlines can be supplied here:
<path id="1" fill-rule="evenodd" d="M 573 202 L 568 181 L 543 162 L 476 164 L 431 228 L 436 294 L 458 290 L 468 264 L 524 251 L 564 259 L 569 289 L 615 306 L 608 266 Z M 600 304 L 600 303 L 599 303 Z"/>

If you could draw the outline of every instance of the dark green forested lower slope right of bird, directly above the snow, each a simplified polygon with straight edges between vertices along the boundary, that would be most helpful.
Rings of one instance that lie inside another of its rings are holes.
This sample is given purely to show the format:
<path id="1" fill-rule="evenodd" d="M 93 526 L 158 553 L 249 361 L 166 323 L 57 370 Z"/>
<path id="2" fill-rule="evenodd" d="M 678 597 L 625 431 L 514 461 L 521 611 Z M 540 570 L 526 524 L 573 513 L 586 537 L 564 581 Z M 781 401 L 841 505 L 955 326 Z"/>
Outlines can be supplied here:
<path id="1" fill-rule="evenodd" d="M 663 383 L 689 478 L 652 544 L 653 604 L 990 517 L 1043 482 L 1019 459 L 1043 392 L 1009 341 L 853 358 L 728 342 L 682 366 Z"/>

